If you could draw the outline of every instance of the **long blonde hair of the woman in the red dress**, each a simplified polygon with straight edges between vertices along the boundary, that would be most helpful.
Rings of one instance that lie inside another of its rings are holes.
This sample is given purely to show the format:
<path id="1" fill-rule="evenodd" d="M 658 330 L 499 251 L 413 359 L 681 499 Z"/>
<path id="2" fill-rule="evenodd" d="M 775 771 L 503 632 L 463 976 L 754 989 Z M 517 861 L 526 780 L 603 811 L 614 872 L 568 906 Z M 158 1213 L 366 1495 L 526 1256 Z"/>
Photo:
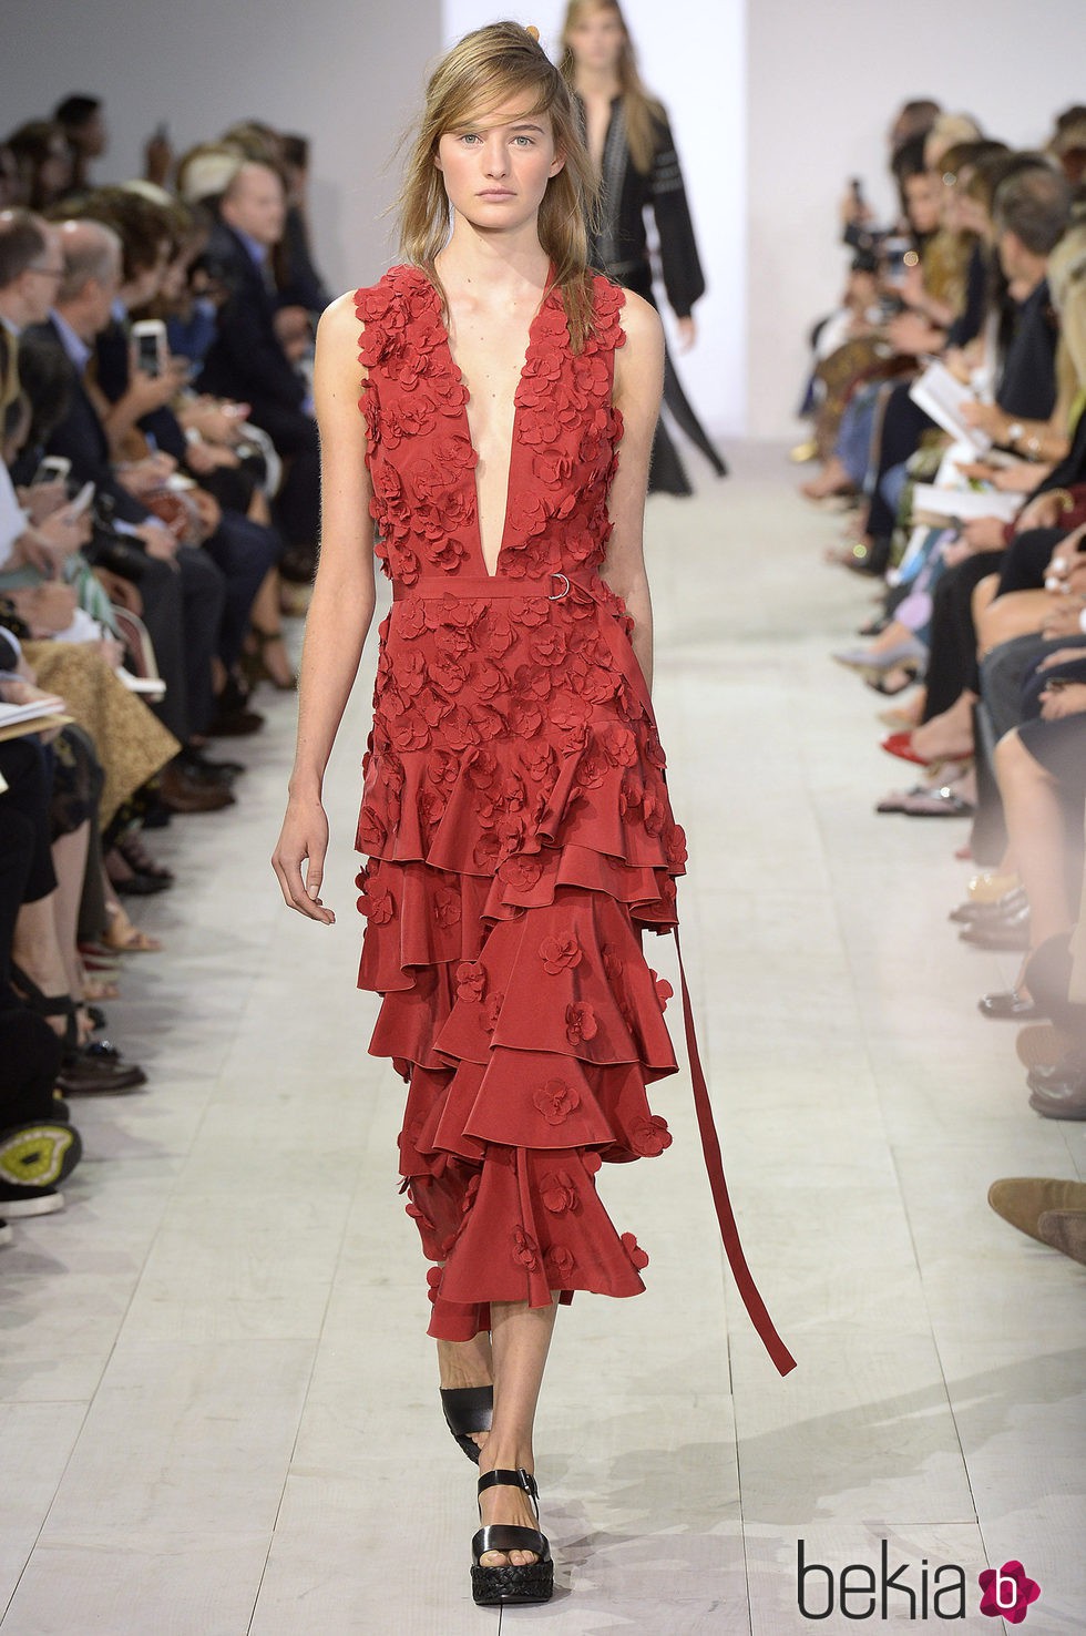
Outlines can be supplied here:
<path id="1" fill-rule="evenodd" d="M 569 88 L 538 41 L 518 23 L 474 29 L 430 75 L 399 196 L 401 255 L 424 268 L 445 301 L 435 272 L 437 255 L 448 242 L 448 198 L 435 165 L 438 141 L 520 98 L 523 113 L 550 116 L 554 151 L 564 160 L 546 183 L 538 234 L 553 263 L 550 290 L 561 290 L 569 339 L 574 350 L 581 350 L 592 332 L 587 219 L 595 209 L 597 188 Z"/>

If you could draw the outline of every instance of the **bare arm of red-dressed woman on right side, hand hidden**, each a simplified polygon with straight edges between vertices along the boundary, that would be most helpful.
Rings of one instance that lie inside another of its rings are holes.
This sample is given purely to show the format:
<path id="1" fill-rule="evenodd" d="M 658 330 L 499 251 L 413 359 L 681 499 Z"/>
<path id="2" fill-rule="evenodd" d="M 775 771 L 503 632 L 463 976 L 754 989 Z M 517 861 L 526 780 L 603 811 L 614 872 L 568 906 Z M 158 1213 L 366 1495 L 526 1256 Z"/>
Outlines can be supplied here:
<path id="1" fill-rule="evenodd" d="M 664 389 L 664 330 L 656 308 L 626 291 L 622 312 L 625 347 L 615 352 L 615 407 L 623 437 L 610 491 L 612 537 L 600 569 L 633 618 L 633 651 L 653 685 L 653 600 L 644 569 L 644 496 L 649 455 Z"/>

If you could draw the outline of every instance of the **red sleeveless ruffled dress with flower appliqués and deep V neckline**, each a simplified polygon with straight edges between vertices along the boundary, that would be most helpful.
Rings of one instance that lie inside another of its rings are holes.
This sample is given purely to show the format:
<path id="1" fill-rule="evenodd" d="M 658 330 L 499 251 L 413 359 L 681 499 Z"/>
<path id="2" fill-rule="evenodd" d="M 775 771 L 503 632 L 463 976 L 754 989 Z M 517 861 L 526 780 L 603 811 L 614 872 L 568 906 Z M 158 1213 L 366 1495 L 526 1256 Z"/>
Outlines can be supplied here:
<path id="1" fill-rule="evenodd" d="M 675 926 L 685 844 L 631 620 L 599 578 L 622 416 L 623 291 L 595 280 L 574 353 L 543 301 L 515 393 L 496 573 L 438 294 L 396 267 L 357 294 L 381 625 L 357 846 L 370 1050 L 409 1080 L 399 1137 L 430 1333 L 491 1301 L 641 1291 L 604 1209 L 604 1160 L 671 1145 L 646 1085 L 675 1072 L 671 995 L 641 934 Z"/>

